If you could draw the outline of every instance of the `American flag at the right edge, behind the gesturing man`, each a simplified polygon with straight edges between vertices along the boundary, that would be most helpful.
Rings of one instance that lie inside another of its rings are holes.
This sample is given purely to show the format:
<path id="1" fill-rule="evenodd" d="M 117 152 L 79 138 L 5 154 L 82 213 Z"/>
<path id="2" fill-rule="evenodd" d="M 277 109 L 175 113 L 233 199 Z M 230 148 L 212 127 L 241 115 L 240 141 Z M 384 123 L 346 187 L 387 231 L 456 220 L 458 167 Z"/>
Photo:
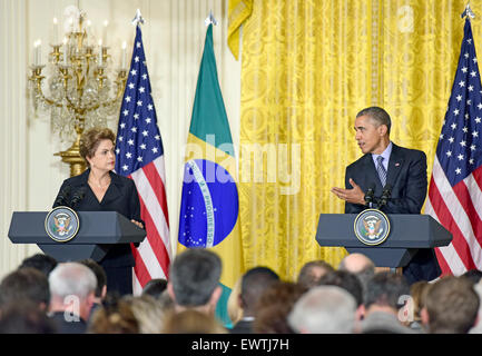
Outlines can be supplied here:
<path id="1" fill-rule="evenodd" d="M 437 248 L 443 274 L 482 269 L 482 88 L 470 20 L 436 147 L 425 214 L 453 235 Z"/>

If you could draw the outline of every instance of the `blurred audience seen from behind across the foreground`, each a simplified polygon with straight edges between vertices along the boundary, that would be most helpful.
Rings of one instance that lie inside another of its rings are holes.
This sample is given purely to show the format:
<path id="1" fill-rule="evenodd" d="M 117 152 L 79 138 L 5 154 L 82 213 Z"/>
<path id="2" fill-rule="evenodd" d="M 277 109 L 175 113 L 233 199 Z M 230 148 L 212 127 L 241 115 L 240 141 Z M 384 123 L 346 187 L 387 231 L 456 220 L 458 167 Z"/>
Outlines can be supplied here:
<path id="1" fill-rule="evenodd" d="M 468 334 L 481 333 L 482 273 L 409 285 L 378 271 L 364 255 L 337 268 L 305 264 L 296 281 L 254 267 L 228 300 L 232 325 L 215 316 L 222 260 L 207 249 L 179 254 L 169 280 L 153 279 L 140 296 L 106 290 L 94 260 L 57 263 L 35 255 L 0 284 L 2 334 Z"/>

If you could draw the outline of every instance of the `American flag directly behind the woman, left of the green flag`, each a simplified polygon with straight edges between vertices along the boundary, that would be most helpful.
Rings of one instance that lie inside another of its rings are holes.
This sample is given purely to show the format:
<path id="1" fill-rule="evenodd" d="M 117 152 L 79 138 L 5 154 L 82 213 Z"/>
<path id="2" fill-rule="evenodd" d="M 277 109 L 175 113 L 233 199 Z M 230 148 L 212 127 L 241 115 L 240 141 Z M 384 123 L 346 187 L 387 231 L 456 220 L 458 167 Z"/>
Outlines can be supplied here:
<path id="1" fill-rule="evenodd" d="M 171 257 L 163 140 L 150 93 L 142 34 L 137 26 L 116 144 L 116 172 L 136 182 L 147 231 L 140 246 L 132 246 L 135 295 L 151 278 L 167 278 Z"/>

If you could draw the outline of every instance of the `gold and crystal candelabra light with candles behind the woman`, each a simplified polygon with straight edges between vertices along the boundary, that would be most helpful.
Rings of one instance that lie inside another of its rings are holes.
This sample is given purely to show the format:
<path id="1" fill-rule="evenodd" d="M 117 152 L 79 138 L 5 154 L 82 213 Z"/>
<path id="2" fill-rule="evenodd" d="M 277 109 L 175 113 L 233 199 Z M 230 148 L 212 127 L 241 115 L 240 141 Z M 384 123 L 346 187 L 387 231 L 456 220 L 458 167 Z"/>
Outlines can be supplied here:
<path id="1" fill-rule="evenodd" d="M 105 23 L 105 33 L 106 30 Z M 36 111 L 50 111 L 52 132 L 58 134 L 61 141 L 73 141 L 66 151 L 55 154 L 70 165 L 72 177 L 86 169 L 79 154 L 82 132 L 95 126 L 106 127 L 109 119 L 118 117 L 127 80 L 126 43 L 122 44 L 120 68 L 114 70 L 112 66 L 109 67 L 111 58 L 106 37 L 95 43 L 90 21 L 86 22 L 83 11 L 77 10 L 77 16 L 70 18 L 63 41 L 59 41 L 57 31 L 58 23 L 53 19 L 53 39 L 47 66 L 41 63 L 40 41 L 35 43 L 30 93 Z"/>

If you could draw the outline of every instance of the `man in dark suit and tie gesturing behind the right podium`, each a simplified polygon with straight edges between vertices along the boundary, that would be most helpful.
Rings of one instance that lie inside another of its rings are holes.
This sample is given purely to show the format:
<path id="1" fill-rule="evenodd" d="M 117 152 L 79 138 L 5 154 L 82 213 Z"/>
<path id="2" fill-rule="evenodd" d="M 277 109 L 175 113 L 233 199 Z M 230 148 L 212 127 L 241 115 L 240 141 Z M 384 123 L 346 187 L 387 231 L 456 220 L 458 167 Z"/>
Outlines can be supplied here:
<path id="1" fill-rule="evenodd" d="M 393 144 L 391 126 L 388 113 L 378 107 L 356 115 L 355 139 L 364 156 L 346 168 L 345 189 L 332 188 L 345 201 L 345 214 L 367 208 L 385 214 L 421 212 L 427 190 L 426 156 Z M 439 277 L 441 269 L 433 249 L 420 249 L 403 274 L 410 284 Z"/>

